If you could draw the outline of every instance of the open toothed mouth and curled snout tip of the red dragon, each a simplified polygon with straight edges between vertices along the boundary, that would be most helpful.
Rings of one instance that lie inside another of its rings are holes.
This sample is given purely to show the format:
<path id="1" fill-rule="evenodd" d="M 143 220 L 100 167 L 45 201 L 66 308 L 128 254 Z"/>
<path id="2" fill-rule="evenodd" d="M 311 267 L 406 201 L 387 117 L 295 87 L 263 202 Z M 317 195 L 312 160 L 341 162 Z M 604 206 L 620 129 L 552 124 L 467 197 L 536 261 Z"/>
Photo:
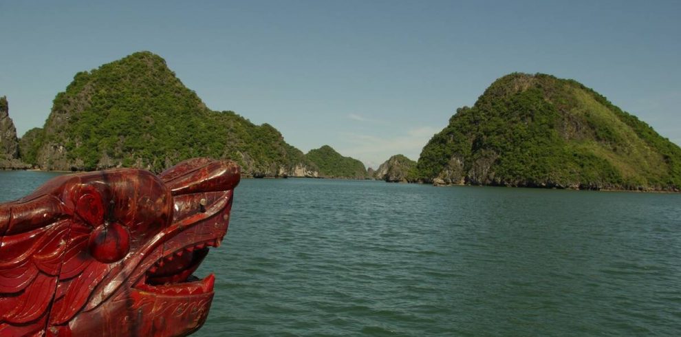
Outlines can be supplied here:
<path id="1" fill-rule="evenodd" d="M 173 225 L 162 233 L 168 239 L 149 253 L 157 258 L 145 263 L 146 271 L 134 287 L 166 296 L 213 292 L 213 274 L 199 279 L 193 273 L 208 254 L 208 247 L 219 247 L 226 234 L 231 189 L 239 182 L 238 166 L 191 160 L 161 177 L 173 193 Z"/>

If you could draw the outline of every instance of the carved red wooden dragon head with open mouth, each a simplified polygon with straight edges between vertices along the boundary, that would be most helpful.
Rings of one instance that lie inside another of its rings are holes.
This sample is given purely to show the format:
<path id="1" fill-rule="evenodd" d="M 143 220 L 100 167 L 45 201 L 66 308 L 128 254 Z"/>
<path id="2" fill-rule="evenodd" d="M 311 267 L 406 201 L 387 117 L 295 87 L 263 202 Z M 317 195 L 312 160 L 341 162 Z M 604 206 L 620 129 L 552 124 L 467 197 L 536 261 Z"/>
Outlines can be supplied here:
<path id="1" fill-rule="evenodd" d="M 227 232 L 239 166 L 195 158 L 62 175 L 0 204 L 0 336 L 184 336 L 215 276 L 192 273 Z"/>

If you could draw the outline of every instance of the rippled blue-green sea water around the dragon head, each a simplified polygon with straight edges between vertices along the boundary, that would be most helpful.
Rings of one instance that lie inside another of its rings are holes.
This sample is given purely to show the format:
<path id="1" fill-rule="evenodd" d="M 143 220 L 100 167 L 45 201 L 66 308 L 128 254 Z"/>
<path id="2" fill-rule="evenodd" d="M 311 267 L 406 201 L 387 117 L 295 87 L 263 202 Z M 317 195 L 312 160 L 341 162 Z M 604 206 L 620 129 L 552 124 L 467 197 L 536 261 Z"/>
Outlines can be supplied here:
<path id="1" fill-rule="evenodd" d="M 210 272 L 195 336 L 680 336 L 681 195 L 242 180 Z"/>

